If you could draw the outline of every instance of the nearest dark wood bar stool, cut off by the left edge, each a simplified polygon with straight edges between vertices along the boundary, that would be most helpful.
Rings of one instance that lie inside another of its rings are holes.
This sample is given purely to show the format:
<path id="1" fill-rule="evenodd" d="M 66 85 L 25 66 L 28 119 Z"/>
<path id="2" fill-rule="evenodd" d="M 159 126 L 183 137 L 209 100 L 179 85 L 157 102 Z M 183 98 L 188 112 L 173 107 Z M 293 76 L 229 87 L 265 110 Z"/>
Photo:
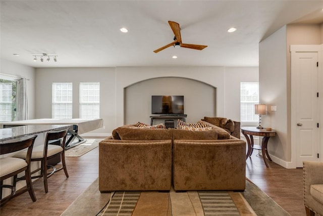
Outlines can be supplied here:
<path id="1" fill-rule="evenodd" d="M 34 146 L 34 142 L 37 135 L 26 139 L 26 140 L 20 140 L 16 142 L 10 142 L 10 143 L 2 143 L 0 144 L 0 154 L 8 154 L 13 153 L 16 151 L 20 151 L 23 149 L 28 148 L 27 151 L 24 151 L 25 159 L 21 158 L 15 158 L 15 157 L 4 157 L 0 158 L 0 206 L 7 203 L 10 199 L 28 191 L 30 198 L 33 202 L 36 201 L 36 196 L 32 187 L 31 183 L 31 173 L 30 173 L 30 161 L 31 161 L 31 153 Z M 17 175 L 25 171 L 25 180 L 26 180 L 26 187 L 23 187 L 16 191 L 16 183 L 20 179 L 17 178 Z M 9 179 L 13 177 L 13 184 L 12 185 L 4 185 L 4 180 Z M 2 198 L 3 195 L 3 188 L 9 188 L 11 189 L 11 194 Z"/>

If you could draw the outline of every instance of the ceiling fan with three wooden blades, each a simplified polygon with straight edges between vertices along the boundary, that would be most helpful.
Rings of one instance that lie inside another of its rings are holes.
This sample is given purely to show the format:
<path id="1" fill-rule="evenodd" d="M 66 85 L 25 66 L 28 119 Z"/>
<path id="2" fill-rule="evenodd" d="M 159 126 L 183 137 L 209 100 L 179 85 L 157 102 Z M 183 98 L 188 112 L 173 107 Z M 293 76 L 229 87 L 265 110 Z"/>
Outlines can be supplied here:
<path id="1" fill-rule="evenodd" d="M 180 28 L 180 24 L 178 24 L 177 22 L 173 22 L 173 21 L 168 21 L 168 23 L 170 24 L 173 32 L 174 32 L 174 42 L 171 42 L 171 44 L 168 44 L 164 47 L 161 47 L 155 51 L 153 51 L 154 53 L 158 53 L 159 51 L 162 51 L 168 47 L 174 46 L 175 48 L 190 48 L 190 49 L 194 49 L 194 50 L 203 50 L 204 48 L 206 48 L 207 46 L 204 45 L 195 45 L 195 44 L 182 44 L 182 38 L 181 38 L 181 28 Z"/>

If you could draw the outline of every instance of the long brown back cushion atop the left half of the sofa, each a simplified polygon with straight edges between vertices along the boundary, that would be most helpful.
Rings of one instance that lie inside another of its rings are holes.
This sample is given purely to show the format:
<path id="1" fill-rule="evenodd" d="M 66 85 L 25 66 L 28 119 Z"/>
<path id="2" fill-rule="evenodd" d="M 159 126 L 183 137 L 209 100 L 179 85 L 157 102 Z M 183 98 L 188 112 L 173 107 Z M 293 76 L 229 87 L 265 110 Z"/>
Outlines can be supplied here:
<path id="1" fill-rule="evenodd" d="M 148 129 L 118 127 L 116 133 L 121 140 L 171 140 L 172 132 L 169 129 Z"/>

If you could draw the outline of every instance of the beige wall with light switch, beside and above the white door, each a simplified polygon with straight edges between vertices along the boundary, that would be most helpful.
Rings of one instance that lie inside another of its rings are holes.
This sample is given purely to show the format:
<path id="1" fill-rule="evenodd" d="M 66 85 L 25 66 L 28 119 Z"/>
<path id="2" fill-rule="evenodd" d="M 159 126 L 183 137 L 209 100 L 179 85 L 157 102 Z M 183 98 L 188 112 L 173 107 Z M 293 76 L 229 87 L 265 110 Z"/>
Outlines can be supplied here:
<path id="1" fill-rule="evenodd" d="M 268 146 L 272 159 L 288 167 L 291 164 L 291 71 L 290 45 L 320 45 L 322 25 L 290 24 L 259 43 L 260 102 L 277 106 L 267 110 L 263 125 L 277 130 Z"/>

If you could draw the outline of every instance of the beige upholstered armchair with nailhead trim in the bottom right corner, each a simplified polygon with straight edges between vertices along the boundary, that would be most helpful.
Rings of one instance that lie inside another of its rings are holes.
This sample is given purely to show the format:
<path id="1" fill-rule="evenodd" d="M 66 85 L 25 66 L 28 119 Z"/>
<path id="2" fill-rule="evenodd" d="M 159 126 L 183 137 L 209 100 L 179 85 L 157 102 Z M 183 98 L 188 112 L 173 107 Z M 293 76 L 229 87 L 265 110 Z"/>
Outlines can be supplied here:
<path id="1" fill-rule="evenodd" d="M 306 215 L 323 215 L 323 162 L 303 161 L 303 183 Z"/>

